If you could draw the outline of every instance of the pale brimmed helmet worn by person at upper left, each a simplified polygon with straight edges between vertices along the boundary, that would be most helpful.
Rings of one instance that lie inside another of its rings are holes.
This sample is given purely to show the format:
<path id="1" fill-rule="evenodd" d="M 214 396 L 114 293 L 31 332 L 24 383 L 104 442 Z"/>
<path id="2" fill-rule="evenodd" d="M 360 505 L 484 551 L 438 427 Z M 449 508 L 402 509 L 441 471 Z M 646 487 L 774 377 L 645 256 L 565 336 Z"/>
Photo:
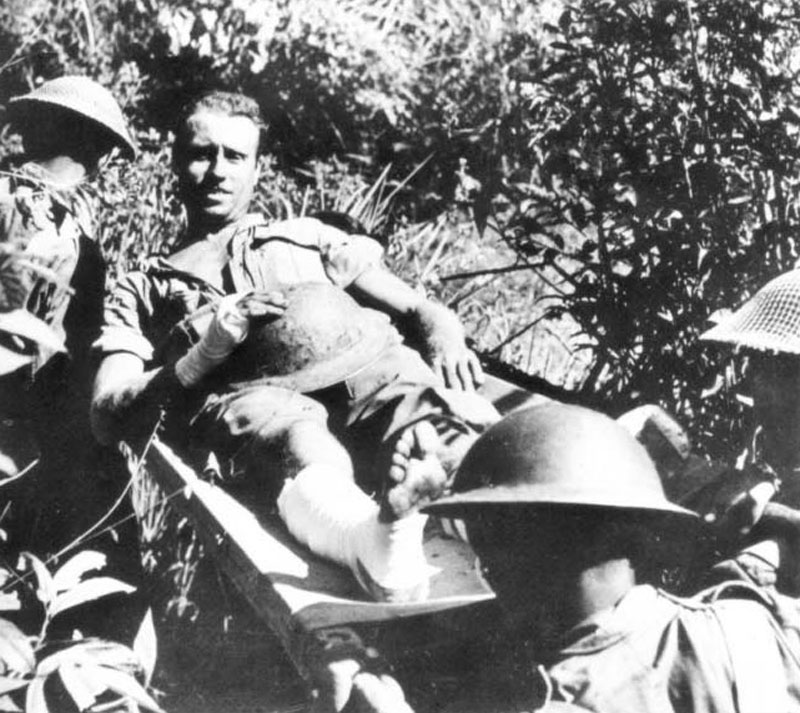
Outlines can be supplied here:
<path id="1" fill-rule="evenodd" d="M 127 158 L 136 155 L 136 145 L 128 133 L 119 104 L 108 89 L 94 80 L 80 76 L 58 77 L 9 102 L 12 111 L 18 113 L 42 104 L 69 109 L 99 124 L 109 132 Z"/>

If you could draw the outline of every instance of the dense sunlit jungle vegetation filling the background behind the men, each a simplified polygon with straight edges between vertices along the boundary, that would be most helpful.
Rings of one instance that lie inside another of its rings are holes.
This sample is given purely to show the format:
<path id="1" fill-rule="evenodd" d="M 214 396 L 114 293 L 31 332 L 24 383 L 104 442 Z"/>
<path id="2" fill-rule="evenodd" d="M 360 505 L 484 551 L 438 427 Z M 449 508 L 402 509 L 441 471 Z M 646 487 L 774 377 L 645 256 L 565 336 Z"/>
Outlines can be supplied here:
<path id="1" fill-rule="evenodd" d="M 660 403 L 731 458 L 740 365 L 697 337 L 798 257 L 798 34 L 794 0 L 6 0 L 0 108 L 66 73 L 124 106 L 140 156 L 97 185 L 113 279 L 180 228 L 175 107 L 248 92 L 267 215 L 347 210 L 481 351 L 612 413 Z M 155 539 L 169 516 L 136 497 Z"/>

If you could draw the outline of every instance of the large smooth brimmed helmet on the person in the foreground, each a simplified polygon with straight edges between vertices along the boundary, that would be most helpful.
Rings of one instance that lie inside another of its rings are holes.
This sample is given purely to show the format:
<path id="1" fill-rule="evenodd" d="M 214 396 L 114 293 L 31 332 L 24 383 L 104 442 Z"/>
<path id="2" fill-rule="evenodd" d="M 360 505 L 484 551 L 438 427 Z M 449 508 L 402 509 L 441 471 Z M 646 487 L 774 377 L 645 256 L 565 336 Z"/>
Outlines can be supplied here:
<path id="1" fill-rule="evenodd" d="M 669 502 L 644 447 L 613 419 L 548 403 L 515 411 L 473 444 L 453 495 L 426 512 L 466 518 L 487 505 L 588 505 L 697 515 Z"/>

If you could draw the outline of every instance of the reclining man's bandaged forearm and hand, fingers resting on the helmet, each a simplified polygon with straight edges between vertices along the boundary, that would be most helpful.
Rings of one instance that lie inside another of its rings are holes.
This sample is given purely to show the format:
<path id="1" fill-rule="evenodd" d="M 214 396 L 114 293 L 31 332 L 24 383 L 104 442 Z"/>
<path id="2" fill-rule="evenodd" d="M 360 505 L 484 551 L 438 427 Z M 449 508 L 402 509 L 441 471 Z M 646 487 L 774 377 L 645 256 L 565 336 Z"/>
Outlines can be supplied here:
<path id="1" fill-rule="evenodd" d="M 286 309 L 281 292 L 247 292 L 223 297 L 208 329 L 183 357 L 175 362 L 175 376 L 186 388 L 224 362 L 246 338 L 251 320 L 275 319 Z"/>

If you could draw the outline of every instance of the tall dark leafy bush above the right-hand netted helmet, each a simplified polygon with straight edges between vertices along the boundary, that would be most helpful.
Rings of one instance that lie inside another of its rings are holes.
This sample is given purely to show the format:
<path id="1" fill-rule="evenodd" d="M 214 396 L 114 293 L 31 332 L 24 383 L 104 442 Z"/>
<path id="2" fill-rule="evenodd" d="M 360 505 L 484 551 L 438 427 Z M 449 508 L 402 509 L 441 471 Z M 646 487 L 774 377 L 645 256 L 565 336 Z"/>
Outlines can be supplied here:
<path id="1" fill-rule="evenodd" d="M 579 322 L 587 388 L 612 407 L 660 402 L 706 434 L 730 418 L 701 400 L 712 355 L 697 337 L 797 258 L 799 15 L 783 0 L 585 0 L 528 67 L 524 160 L 496 218 L 559 276 L 550 314 Z"/>

